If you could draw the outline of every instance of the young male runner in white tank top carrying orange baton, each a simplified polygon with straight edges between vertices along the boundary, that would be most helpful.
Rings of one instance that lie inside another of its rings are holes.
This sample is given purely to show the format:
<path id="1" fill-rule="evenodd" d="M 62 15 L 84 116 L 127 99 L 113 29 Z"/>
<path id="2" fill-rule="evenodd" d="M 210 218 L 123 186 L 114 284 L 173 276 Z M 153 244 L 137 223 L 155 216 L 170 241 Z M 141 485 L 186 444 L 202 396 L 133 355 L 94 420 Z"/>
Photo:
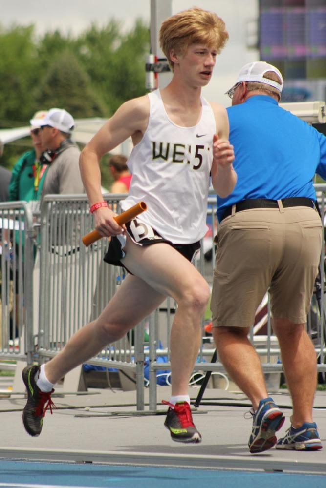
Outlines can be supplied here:
<path id="1" fill-rule="evenodd" d="M 44 405 L 60 378 L 122 338 L 171 296 L 178 306 L 171 332 L 172 396 L 165 427 L 174 441 L 201 441 L 192 420 L 188 382 L 210 290 L 191 261 L 207 229 L 210 172 L 223 197 L 237 179 L 226 110 L 206 102 L 201 88 L 210 81 L 227 39 L 223 20 L 200 8 L 166 19 L 160 43 L 173 70 L 172 81 L 123 103 L 81 154 L 95 228 L 103 237 L 112 236 L 106 261 L 122 264 L 130 273 L 98 319 L 81 328 L 45 366 L 24 369 L 28 400 L 23 422 L 30 435 L 40 434 Z M 142 200 L 148 210 L 120 227 L 103 202 L 99 160 L 130 136 L 134 148 L 128 166 L 133 176 L 121 207 L 126 210 Z"/>

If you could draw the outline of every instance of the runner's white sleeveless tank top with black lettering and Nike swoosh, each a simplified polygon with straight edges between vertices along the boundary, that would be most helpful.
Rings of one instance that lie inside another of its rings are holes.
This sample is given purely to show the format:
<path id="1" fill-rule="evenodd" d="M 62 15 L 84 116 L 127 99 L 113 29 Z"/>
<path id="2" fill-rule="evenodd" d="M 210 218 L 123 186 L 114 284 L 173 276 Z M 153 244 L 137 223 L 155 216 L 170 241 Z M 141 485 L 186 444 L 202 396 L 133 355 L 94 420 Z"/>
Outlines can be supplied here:
<path id="1" fill-rule="evenodd" d="M 212 165 L 215 118 L 201 97 L 201 117 L 181 127 L 167 116 L 159 90 L 148 94 L 150 117 L 142 140 L 128 160 L 132 173 L 123 210 L 144 201 L 139 218 L 174 244 L 191 244 L 207 231 L 207 195 Z"/>

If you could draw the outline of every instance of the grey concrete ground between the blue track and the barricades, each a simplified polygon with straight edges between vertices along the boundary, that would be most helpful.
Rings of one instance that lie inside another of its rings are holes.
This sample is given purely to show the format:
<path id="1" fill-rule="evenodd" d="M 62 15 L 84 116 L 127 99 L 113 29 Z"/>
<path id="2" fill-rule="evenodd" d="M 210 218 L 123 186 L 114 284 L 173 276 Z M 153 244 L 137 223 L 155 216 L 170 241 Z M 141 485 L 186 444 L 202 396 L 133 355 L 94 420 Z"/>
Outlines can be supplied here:
<path id="1" fill-rule="evenodd" d="M 0 459 L 326 474 L 326 392 L 316 392 L 314 409 L 324 449 L 273 448 L 252 455 L 248 450 L 252 420 L 246 418 L 250 403 L 243 394 L 206 388 L 193 412 L 202 443 L 185 445 L 173 442 L 164 427 L 167 407 L 161 400 L 169 399 L 169 386 L 157 387 L 155 412 L 149 412 L 148 389 L 145 410 L 137 412 L 135 391 L 88 388 L 87 392 L 64 394 L 58 386 L 53 395 L 58 408 L 53 415 L 47 411 L 41 436 L 33 438 L 22 425 L 23 385 L 21 393 L 10 396 L 5 393 L 9 383 L 9 379 L 0 380 Z M 192 400 L 198 391 L 190 387 Z M 289 427 L 291 401 L 286 390 L 272 396 L 286 416 L 278 432 L 282 437 Z"/>

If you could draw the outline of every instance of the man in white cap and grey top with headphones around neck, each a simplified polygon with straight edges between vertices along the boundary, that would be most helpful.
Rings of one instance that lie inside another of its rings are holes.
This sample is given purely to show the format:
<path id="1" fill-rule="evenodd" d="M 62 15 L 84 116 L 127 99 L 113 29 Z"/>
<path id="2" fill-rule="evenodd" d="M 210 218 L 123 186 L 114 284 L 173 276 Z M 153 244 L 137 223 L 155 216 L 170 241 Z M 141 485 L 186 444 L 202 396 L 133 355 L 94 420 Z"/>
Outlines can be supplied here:
<path id="1" fill-rule="evenodd" d="M 74 125 L 73 117 L 61 108 L 51 108 L 40 124 L 41 142 L 46 150 L 41 160 L 49 164 L 41 200 L 51 193 L 84 193 L 78 163 L 80 150 L 70 139 Z"/>

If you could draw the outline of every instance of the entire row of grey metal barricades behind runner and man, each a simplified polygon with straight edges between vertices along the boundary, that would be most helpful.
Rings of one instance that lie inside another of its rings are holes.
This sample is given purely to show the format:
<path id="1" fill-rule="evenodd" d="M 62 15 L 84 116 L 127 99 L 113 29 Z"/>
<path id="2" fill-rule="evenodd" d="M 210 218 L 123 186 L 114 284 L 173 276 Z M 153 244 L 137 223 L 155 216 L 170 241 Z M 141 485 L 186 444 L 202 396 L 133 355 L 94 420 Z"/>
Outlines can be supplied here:
<path id="1" fill-rule="evenodd" d="M 318 184 L 315 187 L 324 219 L 326 184 Z M 123 195 L 107 194 L 104 198 L 117 213 L 120 212 L 119 202 L 124 198 Z M 6 218 L 10 218 L 10 222 L 15 222 L 17 230 L 15 233 L 12 232 L 12 241 L 18 250 L 14 258 L 18 271 L 14 278 L 10 274 L 6 255 L 1 255 L 0 355 L 24 358 L 28 363 L 33 359 L 42 362 L 54 357 L 79 328 L 100 314 L 113 296 L 116 286 L 123 280 L 124 273 L 120 267 L 103 262 L 108 247 L 106 239 L 100 239 L 89 247 L 85 247 L 81 242 L 81 237 L 92 230 L 93 226 L 86 195 L 47 195 L 43 200 L 41 218 L 38 222 L 35 222 L 34 218 L 34 224 L 31 210 L 24 202 L 0 204 L 0 218 L 3 222 L 6 222 Z M 215 267 L 214 236 L 218 227 L 216 198 L 213 195 L 208 199 L 207 222 L 210 230 L 202 240 L 195 265 L 209 285 L 212 285 Z M 320 372 L 326 371 L 324 258 L 323 248 L 320 293 L 318 294 L 318 290 L 314 293 L 307 323 L 307 330 L 318 355 Z M 18 302 L 24 305 L 20 306 L 20 310 L 24 311 L 24 320 L 22 317 L 19 319 L 16 349 L 10 342 L 13 327 L 10 325 L 12 319 L 9 311 L 11 278 L 12 286 L 18 289 Z M 174 300 L 167 298 L 150 317 L 137 325 L 125 338 L 104 348 L 88 361 L 90 365 L 117 368 L 131 373 L 136 380 L 138 410 L 144 409 L 145 362 L 148 370 L 146 384 L 149 387 L 150 410 L 156 409 L 157 375 L 160 371 L 167 371 L 164 374 L 168 378 L 167 383 L 169 382 L 169 340 L 175 309 Z M 258 320 L 250 337 L 261 355 L 264 373 L 280 374 L 280 350 L 276 338 L 272 335 L 267 295 L 261 305 L 261 311 L 263 319 Z M 205 332 L 205 325 L 209 321 L 208 308 L 206 320 L 202 322 L 202 343 L 194 368 L 194 378 L 200 379 L 206 371 L 213 371 L 225 379 L 225 371 L 218 358 L 216 363 L 211 363 L 215 345 L 212 336 Z M 261 327 L 261 323 L 264 327 L 261 328 L 263 334 L 257 333 L 256 330 Z M 148 337 L 144 333 L 146 331 Z M 160 359 L 164 359 L 164 362 Z"/>

